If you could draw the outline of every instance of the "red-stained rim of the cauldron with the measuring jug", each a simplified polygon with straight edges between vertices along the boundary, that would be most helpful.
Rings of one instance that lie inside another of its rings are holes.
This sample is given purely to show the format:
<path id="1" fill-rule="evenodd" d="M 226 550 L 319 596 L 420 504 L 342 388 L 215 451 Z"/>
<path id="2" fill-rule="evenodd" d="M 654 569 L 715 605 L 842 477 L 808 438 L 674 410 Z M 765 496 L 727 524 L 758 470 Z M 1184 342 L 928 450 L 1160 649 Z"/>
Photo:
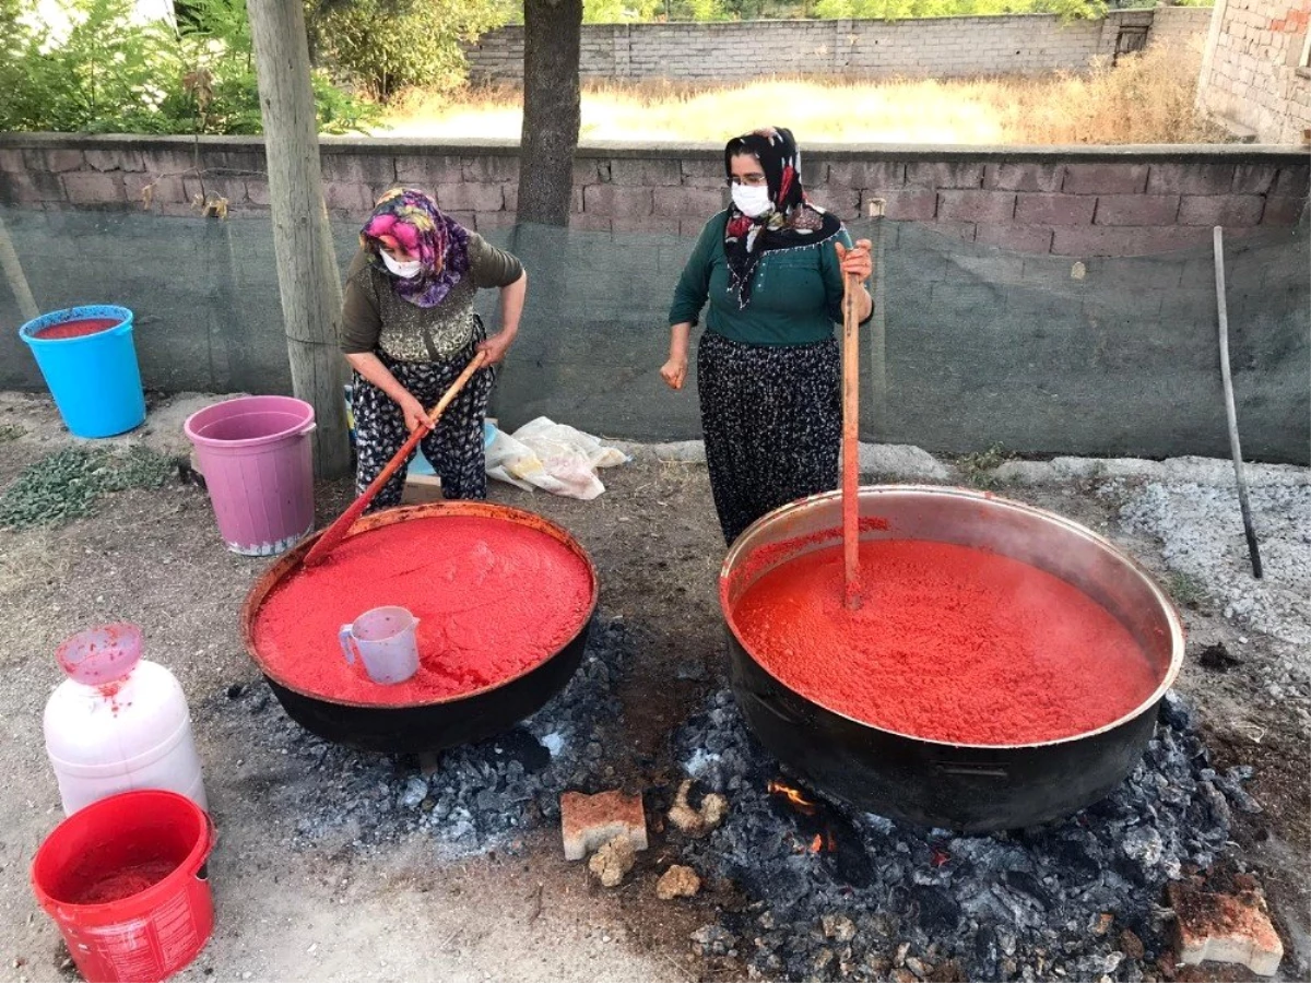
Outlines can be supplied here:
<path id="1" fill-rule="evenodd" d="M 364 515 L 355 522 L 351 527 L 351 532 L 346 539 L 353 539 L 361 536 L 372 530 L 383 528 L 385 526 L 393 526 L 400 522 L 406 522 L 409 519 L 439 519 L 439 518 L 454 518 L 454 516 L 477 516 L 484 519 L 501 519 L 511 522 L 519 526 L 526 526 L 528 528 L 538 530 L 552 539 L 557 540 L 561 545 L 569 549 L 585 566 L 587 570 L 587 585 L 591 602 L 587 604 L 586 612 L 578 619 L 578 624 L 569 633 L 565 641 L 556 647 L 549 655 L 530 666 L 526 666 L 519 672 L 513 676 L 506 676 L 505 679 L 497 680 L 490 685 L 485 685 L 481 689 L 469 689 L 463 693 L 454 693 L 451 696 L 435 697 L 431 700 L 420 700 L 416 703 L 404 704 L 383 704 L 371 703 L 367 700 L 341 700 L 336 697 L 324 696 L 323 693 L 308 692 L 303 687 L 290 683 L 284 676 L 274 672 L 264 657 L 260 654 L 260 649 L 254 640 L 254 624 L 260 613 L 260 608 L 265 599 L 271 594 L 278 585 L 281 585 L 287 575 L 300 566 L 302 560 L 305 553 L 311 550 L 313 544 L 324 533 L 325 530 L 317 530 L 311 533 L 295 547 L 288 549 L 273 565 L 265 570 L 260 578 L 252 585 L 249 594 L 246 594 L 245 603 L 241 606 L 241 641 L 245 645 L 246 654 L 250 661 L 254 662 L 260 672 L 264 676 L 284 689 L 288 689 L 307 700 L 317 700 L 319 703 L 328 704 L 332 706 L 349 706 L 351 709 L 361 710 L 414 710 L 425 708 L 438 708 L 448 706 L 452 704 L 464 703 L 465 700 L 477 699 L 502 689 L 523 676 L 534 672 L 543 666 L 553 662 L 556 658 L 564 653 L 569 645 L 587 628 L 591 623 L 593 616 L 597 613 L 597 604 L 599 602 L 600 591 L 598 587 L 597 566 L 593 564 L 591 557 L 587 550 L 582 548 L 574 536 L 565 530 L 562 526 L 547 519 L 544 516 L 530 512 L 524 509 L 515 509 L 509 505 L 499 505 L 496 502 L 482 502 L 482 501 L 468 501 L 468 499 L 451 499 L 446 502 L 425 502 L 421 505 L 408 505 L 399 506 L 396 509 L 385 509 L 370 515 Z M 346 540 L 342 540 L 346 541 Z"/>

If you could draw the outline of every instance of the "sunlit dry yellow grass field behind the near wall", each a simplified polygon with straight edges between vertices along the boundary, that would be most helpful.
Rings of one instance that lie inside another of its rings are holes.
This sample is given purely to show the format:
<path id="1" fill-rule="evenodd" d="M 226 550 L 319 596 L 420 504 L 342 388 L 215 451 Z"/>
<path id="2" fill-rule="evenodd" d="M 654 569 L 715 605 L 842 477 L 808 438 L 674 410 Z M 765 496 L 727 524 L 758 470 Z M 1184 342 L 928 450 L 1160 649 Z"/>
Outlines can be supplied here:
<path id="1" fill-rule="evenodd" d="M 762 119 L 804 143 L 1209 143 L 1223 139 L 1193 109 L 1200 54 L 1151 48 L 1082 76 L 974 81 L 766 79 L 716 88 L 591 83 L 582 139 L 718 143 Z M 393 136 L 517 139 L 511 88 L 473 88 L 448 100 L 413 92 L 376 132 Z"/>

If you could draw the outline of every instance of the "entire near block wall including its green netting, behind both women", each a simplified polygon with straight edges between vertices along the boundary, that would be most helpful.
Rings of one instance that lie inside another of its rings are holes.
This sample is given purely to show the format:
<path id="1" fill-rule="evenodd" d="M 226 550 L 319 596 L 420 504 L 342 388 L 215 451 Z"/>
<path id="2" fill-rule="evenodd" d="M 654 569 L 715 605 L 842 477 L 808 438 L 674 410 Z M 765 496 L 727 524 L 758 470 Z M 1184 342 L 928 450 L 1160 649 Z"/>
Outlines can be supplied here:
<path id="1" fill-rule="evenodd" d="M 948 453 L 998 442 L 1036 455 L 1227 453 L 1209 248 L 1222 222 L 1244 450 L 1311 463 L 1311 354 L 1290 342 L 1306 334 L 1311 249 L 1287 231 L 1304 214 L 1311 155 L 806 151 L 821 203 L 853 219 L 881 197 L 893 216 L 880 265 L 889 388 L 864 439 Z M 515 155 L 506 143 L 325 140 L 338 266 L 393 181 L 431 189 L 509 244 Z M 288 392 L 265 172 L 258 140 L 0 135 L 0 215 L 41 309 L 136 312 L 151 389 Z M 695 438 L 696 400 L 670 393 L 657 370 L 691 236 L 724 203 L 720 148 L 583 147 L 574 181 L 573 220 L 587 233 L 549 240 L 562 273 L 532 274 L 532 296 L 555 299 L 530 301 L 494 413 L 510 430 L 547 415 L 590 433 Z M 195 195 L 222 195 L 232 218 L 199 218 Z M 496 304 L 485 291 L 489 324 Z M 22 316 L 0 277 L 0 389 L 41 391 L 13 330 Z"/>

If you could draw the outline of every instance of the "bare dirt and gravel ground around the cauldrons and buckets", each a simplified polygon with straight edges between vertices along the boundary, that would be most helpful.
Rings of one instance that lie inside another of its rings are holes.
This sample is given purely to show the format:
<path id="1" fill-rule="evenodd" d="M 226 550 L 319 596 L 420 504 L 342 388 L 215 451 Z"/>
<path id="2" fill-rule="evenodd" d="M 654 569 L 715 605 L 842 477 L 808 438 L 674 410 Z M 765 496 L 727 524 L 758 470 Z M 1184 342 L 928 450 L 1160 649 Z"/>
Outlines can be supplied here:
<path id="1" fill-rule="evenodd" d="M 147 427 L 104 443 L 185 453 L 181 421 L 212 398 L 155 401 Z M 49 401 L 0 393 L 0 492 L 25 467 L 72 443 Z M 722 543 L 699 448 L 636 450 L 632 464 L 603 474 L 608 492 L 594 502 L 503 486 L 493 497 L 562 523 L 597 562 L 602 624 L 623 624 L 624 654 L 607 663 L 620 668 L 606 696 L 617 701 L 619 731 L 603 761 L 589 751 L 581 773 L 598 780 L 590 769 L 599 764 L 610 780 L 604 768 L 612 767 L 616 785 L 646 788 L 650 803 L 667 801 L 682 777 L 669 735 L 725 683 L 714 595 Z M 1306 978 L 1311 471 L 1252 469 L 1266 564 L 1265 579 L 1255 582 L 1227 463 L 1057 459 L 994 465 L 936 461 L 915 448 L 863 450 L 863 471 L 872 478 L 986 486 L 1082 522 L 1110 536 L 1171 590 L 1189 632 L 1179 688 L 1198 708 L 1217 767 L 1256 769 L 1247 788 L 1264 811 L 1243 818 L 1234 849 L 1270 893 L 1289 949 L 1285 978 Z M 341 482 L 321 486 L 320 522 L 347 494 Z M 10 788 L 0 798 L 0 979 L 72 978 L 62 969 L 58 933 L 37 911 L 26 883 L 37 844 L 59 819 L 41 709 L 58 682 L 55 645 L 115 619 L 142 624 L 148 654 L 182 680 L 222 834 L 211 865 L 218 928 L 180 979 L 745 978 L 741 963 L 694 957 L 688 944 L 718 910 L 741 903 L 733 885 L 712 878 L 696 899 L 654 899 L 656 877 L 676 858 L 659 817 L 650 817 L 652 849 L 616 891 L 590 885 L 579 865 L 562 861 L 545 817 L 480 834 L 459 851 L 438 849 L 442 836 L 430 819 L 397 822 L 395 809 L 385 836 L 359 835 L 361 822 L 384 824 L 382 811 L 326 822 L 334 796 L 359 796 L 361 775 L 383 776 L 387 794 L 401 802 L 413 797 L 410 779 L 421 772 L 412 761 L 354 752 L 311 756 L 315 748 L 291 731 L 275 705 L 252 718 L 262 684 L 241 649 L 236 612 L 265 565 L 227 553 L 206 497 L 180 482 L 108 494 L 88 516 L 63 526 L 0 531 L 0 632 L 10 640 L 0 651 L 0 727 Z M 539 739 L 552 733 L 543 721 L 535 727 Z M 463 768 L 477 765 L 461 760 Z M 329 779 L 325 768 L 341 773 Z M 577 771 L 572 765 L 552 781 L 568 782 Z M 553 793 L 534 794 L 541 802 Z M 460 806 L 458 798 L 452 793 L 452 807 Z M 304 835 L 307 817 L 311 836 Z"/>

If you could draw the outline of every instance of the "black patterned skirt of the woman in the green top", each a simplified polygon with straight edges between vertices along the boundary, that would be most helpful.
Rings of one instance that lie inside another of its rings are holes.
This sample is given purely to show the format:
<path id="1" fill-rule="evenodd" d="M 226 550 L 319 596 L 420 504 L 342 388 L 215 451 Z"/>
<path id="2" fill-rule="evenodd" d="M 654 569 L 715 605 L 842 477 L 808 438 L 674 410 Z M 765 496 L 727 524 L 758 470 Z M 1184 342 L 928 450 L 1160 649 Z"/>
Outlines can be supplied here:
<path id="1" fill-rule="evenodd" d="M 725 543 L 768 511 L 838 488 L 836 338 L 743 345 L 705 332 L 696 350 L 705 463 Z"/>

